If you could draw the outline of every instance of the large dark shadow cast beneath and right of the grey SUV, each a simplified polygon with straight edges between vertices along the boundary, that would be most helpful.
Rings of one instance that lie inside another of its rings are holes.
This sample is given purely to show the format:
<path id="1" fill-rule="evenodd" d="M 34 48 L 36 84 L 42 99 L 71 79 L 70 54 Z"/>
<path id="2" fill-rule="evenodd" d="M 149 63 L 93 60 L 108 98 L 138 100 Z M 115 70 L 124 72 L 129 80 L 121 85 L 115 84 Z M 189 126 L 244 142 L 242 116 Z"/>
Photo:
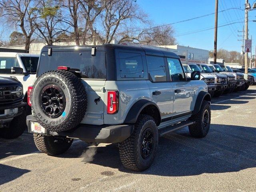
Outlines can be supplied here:
<path id="1" fill-rule="evenodd" d="M 255 139 L 256 128 L 212 124 L 205 138 L 192 138 L 188 128 L 160 138 L 154 163 L 144 172 L 125 169 L 121 164 L 116 144 L 91 146 L 90 148 L 95 148 L 96 154 L 91 162 L 83 162 L 119 169 L 122 172 L 159 176 L 238 172 L 256 167 Z M 70 151 L 59 157 L 76 158 L 81 157 L 83 153 L 81 150 L 75 150 L 69 154 Z"/>

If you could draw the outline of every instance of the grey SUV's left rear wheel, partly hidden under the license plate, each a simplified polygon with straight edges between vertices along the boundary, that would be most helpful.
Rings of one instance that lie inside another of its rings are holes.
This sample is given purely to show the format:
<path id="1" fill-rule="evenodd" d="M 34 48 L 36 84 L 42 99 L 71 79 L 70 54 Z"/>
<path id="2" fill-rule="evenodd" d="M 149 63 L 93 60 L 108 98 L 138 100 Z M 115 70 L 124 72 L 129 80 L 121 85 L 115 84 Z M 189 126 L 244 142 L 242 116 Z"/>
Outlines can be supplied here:
<path id="1" fill-rule="evenodd" d="M 34 134 L 34 142 L 40 152 L 48 155 L 59 155 L 70 148 L 73 139 Z"/>

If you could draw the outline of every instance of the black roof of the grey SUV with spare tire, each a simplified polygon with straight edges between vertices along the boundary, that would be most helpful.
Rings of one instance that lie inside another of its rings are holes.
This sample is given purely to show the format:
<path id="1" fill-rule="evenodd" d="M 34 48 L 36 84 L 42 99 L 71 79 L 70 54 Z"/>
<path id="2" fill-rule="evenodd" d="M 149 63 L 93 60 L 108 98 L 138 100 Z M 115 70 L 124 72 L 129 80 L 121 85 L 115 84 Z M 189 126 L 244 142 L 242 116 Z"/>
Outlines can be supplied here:
<path id="1" fill-rule="evenodd" d="M 131 45 L 121 45 L 121 44 L 104 44 L 104 45 L 91 45 L 91 46 L 56 46 L 56 45 L 46 45 L 42 48 L 42 51 L 46 51 L 45 49 L 48 48 L 53 48 L 53 50 L 55 48 L 61 49 L 61 50 L 69 50 L 74 49 L 74 48 L 78 48 L 80 50 L 86 50 L 88 48 L 92 48 L 92 47 L 96 47 L 97 49 L 101 50 L 101 48 L 105 49 L 105 48 L 119 48 L 119 49 L 126 49 L 126 50 L 140 50 L 140 51 L 144 51 L 145 54 L 147 55 L 156 55 L 156 56 L 166 56 L 166 57 L 174 57 L 174 58 L 180 58 L 177 54 L 170 52 L 170 51 L 166 51 L 166 50 L 162 50 L 160 48 L 148 48 L 148 47 L 144 47 L 144 46 L 131 46 Z M 102 49 L 102 50 L 103 50 Z"/>

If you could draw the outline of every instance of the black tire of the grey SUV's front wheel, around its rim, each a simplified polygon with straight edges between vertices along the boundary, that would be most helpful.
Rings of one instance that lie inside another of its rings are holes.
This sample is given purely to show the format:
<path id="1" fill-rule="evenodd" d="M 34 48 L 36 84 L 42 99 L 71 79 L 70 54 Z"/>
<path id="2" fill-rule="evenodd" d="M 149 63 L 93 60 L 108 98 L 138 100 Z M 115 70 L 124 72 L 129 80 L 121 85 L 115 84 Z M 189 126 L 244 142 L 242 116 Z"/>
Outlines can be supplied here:
<path id="1" fill-rule="evenodd" d="M 203 100 L 200 111 L 197 114 L 194 114 L 190 117 L 190 120 L 195 122 L 194 124 L 188 126 L 189 132 L 190 132 L 191 136 L 193 136 L 193 137 L 202 138 L 202 137 L 206 136 L 202 132 L 202 116 L 203 116 L 204 110 L 206 108 L 208 108 L 209 124 L 210 124 L 211 123 L 211 110 L 210 110 L 210 104 L 206 100 Z"/>

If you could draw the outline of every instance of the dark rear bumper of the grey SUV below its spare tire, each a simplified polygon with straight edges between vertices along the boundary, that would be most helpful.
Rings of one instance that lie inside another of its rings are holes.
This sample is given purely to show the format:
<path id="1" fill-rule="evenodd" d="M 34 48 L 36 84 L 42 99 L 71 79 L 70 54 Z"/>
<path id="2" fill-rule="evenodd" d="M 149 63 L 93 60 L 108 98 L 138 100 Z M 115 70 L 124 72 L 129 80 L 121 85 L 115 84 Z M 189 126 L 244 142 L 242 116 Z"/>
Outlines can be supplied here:
<path id="1" fill-rule="evenodd" d="M 28 126 L 28 132 L 31 131 L 31 122 L 36 122 L 36 118 L 33 115 L 27 116 L 26 123 Z M 46 135 L 59 135 L 67 136 L 69 138 L 78 138 L 85 142 L 96 143 L 118 143 L 126 140 L 130 137 L 133 131 L 133 125 L 120 124 L 120 125 L 88 125 L 79 124 L 73 130 L 64 132 L 51 132 L 47 130 Z"/>

